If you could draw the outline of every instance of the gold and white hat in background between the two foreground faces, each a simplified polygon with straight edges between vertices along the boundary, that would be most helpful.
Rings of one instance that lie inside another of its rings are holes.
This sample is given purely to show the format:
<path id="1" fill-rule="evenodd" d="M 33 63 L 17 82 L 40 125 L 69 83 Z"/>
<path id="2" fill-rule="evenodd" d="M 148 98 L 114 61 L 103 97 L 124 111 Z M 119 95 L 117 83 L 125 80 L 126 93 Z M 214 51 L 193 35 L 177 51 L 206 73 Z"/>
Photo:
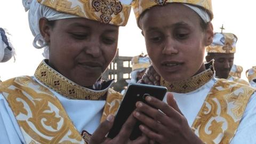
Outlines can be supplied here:
<path id="1" fill-rule="evenodd" d="M 149 67 L 151 61 L 147 55 L 137 55 L 132 58 L 132 70 Z"/>

